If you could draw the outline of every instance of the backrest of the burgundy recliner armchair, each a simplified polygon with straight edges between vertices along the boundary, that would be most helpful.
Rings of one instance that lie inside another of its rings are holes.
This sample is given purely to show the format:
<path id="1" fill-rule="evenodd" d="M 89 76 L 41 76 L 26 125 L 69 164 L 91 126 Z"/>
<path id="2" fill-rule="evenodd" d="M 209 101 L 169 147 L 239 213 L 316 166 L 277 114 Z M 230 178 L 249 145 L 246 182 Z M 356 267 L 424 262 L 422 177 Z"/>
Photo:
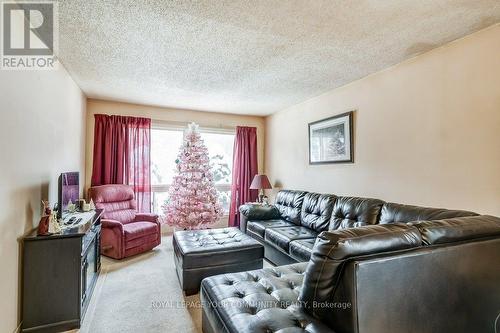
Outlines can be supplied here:
<path id="1" fill-rule="evenodd" d="M 129 223 L 137 213 L 134 189 L 129 185 L 111 184 L 89 188 L 96 208 L 104 209 L 103 218 Z"/>

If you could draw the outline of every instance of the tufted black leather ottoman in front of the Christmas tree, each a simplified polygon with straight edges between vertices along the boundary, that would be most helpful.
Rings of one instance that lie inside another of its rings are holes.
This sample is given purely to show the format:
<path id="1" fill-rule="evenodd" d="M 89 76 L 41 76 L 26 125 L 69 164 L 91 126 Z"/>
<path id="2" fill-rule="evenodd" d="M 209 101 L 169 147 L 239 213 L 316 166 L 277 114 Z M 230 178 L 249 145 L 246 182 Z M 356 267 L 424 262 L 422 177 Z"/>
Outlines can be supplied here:
<path id="1" fill-rule="evenodd" d="M 264 247 L 238 228 L 176 231 L 177 277 L 186 295 L 198 293 L 207 276 L 262 268 Z"/>

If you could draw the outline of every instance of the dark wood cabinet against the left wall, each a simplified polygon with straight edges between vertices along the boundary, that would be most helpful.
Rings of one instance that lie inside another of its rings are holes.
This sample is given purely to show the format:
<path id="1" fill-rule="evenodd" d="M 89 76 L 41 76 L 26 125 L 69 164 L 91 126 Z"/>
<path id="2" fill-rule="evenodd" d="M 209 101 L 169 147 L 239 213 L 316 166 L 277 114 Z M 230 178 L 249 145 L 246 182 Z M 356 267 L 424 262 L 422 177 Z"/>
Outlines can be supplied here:
<path id="1" fill-rule="evenodd" d="M 60 234 L 23 238 L 22 331 L 79 328 L 101 268 L 101 214 Z"/>

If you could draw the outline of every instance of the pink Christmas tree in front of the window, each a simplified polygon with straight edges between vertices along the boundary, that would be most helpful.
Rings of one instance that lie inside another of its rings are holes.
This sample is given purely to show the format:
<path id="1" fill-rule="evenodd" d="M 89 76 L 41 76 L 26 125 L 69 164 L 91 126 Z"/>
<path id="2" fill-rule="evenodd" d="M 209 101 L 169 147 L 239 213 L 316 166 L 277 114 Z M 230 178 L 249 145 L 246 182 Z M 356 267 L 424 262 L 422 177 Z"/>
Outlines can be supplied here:
<path id="1" fill-rule="evenodd" d="M 201 229 L 223 215 L 213 182 L 208 150 L 198 125 L 191 123 L 184 132 L 184 143 L 175 161 L 177 175 L 169 189 L 169 201 L 163 205 L 164 220 L 182 229 Z"/>

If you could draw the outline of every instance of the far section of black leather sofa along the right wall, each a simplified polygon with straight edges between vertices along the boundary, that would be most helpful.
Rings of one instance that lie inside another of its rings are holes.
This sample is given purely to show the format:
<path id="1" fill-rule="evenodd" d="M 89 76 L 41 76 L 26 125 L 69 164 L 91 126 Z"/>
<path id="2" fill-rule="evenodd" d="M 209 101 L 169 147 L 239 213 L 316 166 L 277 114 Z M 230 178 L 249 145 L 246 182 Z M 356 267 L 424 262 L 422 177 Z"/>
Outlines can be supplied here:
<path id="1" fill-rule="evenodd" d="M 278 192 L 273 206 L 241 206 L 240 228 L 264 244 L 267 260 L 285 265 L 308 261 L 322 231 L 474 215 L 463 210 L 284 190 Z"/>

